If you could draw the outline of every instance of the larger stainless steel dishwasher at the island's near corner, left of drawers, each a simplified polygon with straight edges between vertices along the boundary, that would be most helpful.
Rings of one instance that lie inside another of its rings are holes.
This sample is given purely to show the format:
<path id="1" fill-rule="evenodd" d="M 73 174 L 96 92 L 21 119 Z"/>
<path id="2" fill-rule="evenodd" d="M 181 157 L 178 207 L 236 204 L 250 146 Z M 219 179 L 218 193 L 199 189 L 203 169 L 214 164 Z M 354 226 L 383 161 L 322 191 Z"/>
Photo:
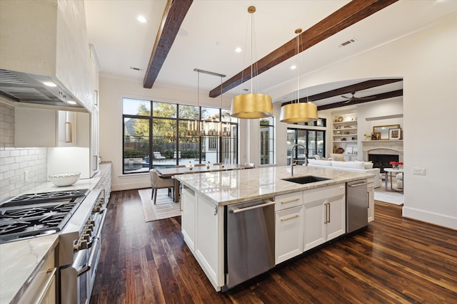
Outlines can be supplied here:
<path id="1" fill-rule="evenodd" d="M 222 290 L 274 267 L 274 199 L 226 206 L 226 285 Z"/>

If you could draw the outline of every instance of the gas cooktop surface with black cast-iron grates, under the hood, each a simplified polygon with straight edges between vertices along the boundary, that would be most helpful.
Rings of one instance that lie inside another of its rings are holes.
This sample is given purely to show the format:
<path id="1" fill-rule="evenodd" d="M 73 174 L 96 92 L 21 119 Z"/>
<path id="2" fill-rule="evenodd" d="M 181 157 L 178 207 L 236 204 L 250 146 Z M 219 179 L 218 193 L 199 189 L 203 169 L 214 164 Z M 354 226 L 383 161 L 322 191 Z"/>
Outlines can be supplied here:
<path id="1" fill-rule="evenodd" d="M 0 206 L 0 243 L 61 231 L 89 189 L 24 194 Z"/>

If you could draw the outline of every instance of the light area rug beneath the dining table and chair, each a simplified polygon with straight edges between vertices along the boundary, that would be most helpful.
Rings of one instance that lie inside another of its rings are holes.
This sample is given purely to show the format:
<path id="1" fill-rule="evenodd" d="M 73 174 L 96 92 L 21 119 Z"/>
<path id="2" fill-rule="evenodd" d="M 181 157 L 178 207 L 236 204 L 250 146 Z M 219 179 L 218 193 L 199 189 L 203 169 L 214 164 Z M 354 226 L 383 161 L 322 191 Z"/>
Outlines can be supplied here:
<path id="1" fill-rule="evenodd" d="M 151 199 L 152 189 L 140 189 L 138 193 L 143 205 L 144 221 L 156 221 L 181 215 L 179 203 L 175 203 L 172 197 L 168 195 L 168 189 L 157 190 L 155 205 Z"/>

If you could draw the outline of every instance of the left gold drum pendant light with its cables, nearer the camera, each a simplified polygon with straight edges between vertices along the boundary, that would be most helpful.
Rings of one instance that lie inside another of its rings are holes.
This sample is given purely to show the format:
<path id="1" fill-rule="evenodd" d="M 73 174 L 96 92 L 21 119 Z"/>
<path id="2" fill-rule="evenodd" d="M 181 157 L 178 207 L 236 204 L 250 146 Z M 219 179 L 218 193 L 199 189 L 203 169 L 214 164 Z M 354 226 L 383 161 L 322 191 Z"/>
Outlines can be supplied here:
<path id="1" fill-rule="evenodd" d="M 251 94 L 236 95 L 231 102 L 231 117 L 255 119 L 270 117 L 273 115 L 273 103 L 271 97 L 265 94 L 253 93 L 253 13 L 256 6 L 249 6 L 251 14 Z M 257 73 L 257 68 L 255 69 Z"/>

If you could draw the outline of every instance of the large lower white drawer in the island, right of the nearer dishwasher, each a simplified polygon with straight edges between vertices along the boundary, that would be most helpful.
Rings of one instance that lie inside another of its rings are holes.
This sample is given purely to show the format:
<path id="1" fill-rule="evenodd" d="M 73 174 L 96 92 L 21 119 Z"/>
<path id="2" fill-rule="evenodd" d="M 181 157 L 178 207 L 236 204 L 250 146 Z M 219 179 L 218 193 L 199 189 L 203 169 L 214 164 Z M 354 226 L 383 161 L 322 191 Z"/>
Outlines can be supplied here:
<path id="1" fill-rule="evenodd" d="M 303 252 L 303 204 L 276 211 L 275 222 L 275 264 L 278 264 Z"/>

